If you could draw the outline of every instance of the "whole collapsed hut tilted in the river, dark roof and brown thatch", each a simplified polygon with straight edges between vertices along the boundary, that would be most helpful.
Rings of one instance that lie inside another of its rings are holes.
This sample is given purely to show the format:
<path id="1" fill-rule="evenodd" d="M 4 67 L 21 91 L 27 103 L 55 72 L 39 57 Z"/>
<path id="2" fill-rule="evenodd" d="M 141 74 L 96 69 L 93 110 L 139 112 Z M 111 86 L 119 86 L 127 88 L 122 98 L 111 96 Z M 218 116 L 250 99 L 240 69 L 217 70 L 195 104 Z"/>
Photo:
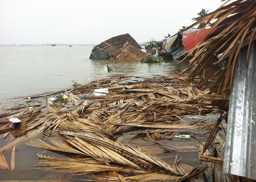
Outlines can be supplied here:
<path id="1" fill-rule="evenodd" d="M 138 45 L 129 33 L 126 33 L 114 36 L 95 46 L 91 51 L 89 59 L 135 58 L 137 60 L 146 58 L 147 54 L 140 49 L 142 49 L 142 47 Z"/>

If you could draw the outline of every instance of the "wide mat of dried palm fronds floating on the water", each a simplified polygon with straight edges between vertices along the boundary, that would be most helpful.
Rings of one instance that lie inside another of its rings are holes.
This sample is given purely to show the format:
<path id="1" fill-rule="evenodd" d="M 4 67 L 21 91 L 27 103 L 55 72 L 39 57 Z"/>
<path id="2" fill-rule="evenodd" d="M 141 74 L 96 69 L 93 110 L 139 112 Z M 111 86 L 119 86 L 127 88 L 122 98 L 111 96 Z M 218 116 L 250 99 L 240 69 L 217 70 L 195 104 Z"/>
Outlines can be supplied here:
<path id="1" fill-rule="evenodd" d="M 144 81 L 128 77 L 97 80 L 74 87 L 66 93 L 66 103 L 43 99 L 38 100 L 37 105 L 30 102 L 29 106 L 4 110 L 0 113 L 0 168 L 17 170 L 14 161 L 19 154 L 15 156 L 15 150 L 28 150 L 32 146 L 41 148 L 35 167 L 65 174 L 58 179 L 71 179 L 67 174 L 95 174 L 88 176 L 90 178 L 80 177 L 87 181 L 192 179 L 204 171 L 206 163 L 195 159 L 197 164 L 193 166 L 193 158 L 184 163 L 181 158 L 196 152 L 197 146 L 203 146 L 205 134 L 224 127 L 216 127 L 214 116 L 200 116 L 218 113 L 207 99 L 206 86 L 214 80 L 200 90 L 196 88 L 202 79 L 200 76 L 191 84 L 186 78 L 187 74 L 173 72 Z M 104 87 L 109 94 L 92 95 L 94 89 Z M 14 117 L 23 122 L 23 128 L 12 130 L 8 126 L 8 118 Z M 193 139 L 175 138 L 180 134 L 189 134 Z M 209 141 L 206 144 L 212 145 L 213 150 L 204 152 L 201 147 L 200 159 L 221 161 L 217 151 L 222 150 L 217 144 Z M 11 151 L 9 167 L 6 159 Z M 182 155 L 180 159 L 178 154 Z M 219 168 L 221 164 L 212 165 L 213 171 L 203 172 L 205 176 L 219 174 L 216 166 Z"/>

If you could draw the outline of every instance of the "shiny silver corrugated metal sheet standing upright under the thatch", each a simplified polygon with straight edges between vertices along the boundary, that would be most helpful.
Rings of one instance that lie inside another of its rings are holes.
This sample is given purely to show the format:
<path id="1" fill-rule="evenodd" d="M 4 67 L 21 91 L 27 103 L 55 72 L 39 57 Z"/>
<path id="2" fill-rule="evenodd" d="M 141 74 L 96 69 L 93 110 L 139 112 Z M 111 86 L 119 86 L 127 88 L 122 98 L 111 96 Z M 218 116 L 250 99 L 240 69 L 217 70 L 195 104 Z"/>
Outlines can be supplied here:
<path id="1" fill-rule="evenodd" d="M 247 49 L 240 50 L 235 66 L 223 172 L 256 179 L 256 42 L 246 68 Z"/>

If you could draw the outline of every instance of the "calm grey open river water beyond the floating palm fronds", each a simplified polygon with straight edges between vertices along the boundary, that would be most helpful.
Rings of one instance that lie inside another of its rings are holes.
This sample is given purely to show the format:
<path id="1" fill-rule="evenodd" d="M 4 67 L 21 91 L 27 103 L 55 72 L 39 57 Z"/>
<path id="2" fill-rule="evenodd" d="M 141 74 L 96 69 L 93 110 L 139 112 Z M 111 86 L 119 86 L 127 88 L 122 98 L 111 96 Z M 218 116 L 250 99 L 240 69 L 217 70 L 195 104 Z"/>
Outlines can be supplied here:
<path id="1" fill-rule="evenodd" d="M 93 46 L 0 46 L 0 101 L 85 84 L 115 75 L 167 75 L 183 70 L 178 60 L 147 64 L 132 60 L 91 60 Z M 101 71 L 108 64 L 113 71 Z"/>

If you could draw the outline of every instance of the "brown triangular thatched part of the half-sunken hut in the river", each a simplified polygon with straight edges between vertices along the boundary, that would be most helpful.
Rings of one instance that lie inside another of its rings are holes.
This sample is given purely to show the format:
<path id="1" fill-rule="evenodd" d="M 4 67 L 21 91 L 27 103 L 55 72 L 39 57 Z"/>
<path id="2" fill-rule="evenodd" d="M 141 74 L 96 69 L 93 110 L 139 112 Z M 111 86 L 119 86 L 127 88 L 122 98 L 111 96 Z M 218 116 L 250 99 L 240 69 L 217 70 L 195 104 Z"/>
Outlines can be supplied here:
<path id="1" fill-rule="evenodd" d="M 119 60 L 141 60 L 146 59 L 149 55 L 142 50 L 137 49 L 130 43 L 126 42 L 123 47 L 121 47 L 118 52 L 114 55 L 113 59 Z"/>

